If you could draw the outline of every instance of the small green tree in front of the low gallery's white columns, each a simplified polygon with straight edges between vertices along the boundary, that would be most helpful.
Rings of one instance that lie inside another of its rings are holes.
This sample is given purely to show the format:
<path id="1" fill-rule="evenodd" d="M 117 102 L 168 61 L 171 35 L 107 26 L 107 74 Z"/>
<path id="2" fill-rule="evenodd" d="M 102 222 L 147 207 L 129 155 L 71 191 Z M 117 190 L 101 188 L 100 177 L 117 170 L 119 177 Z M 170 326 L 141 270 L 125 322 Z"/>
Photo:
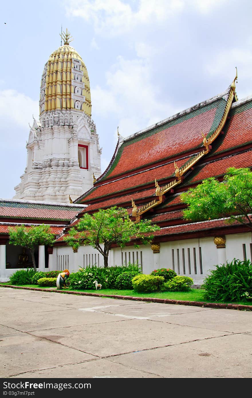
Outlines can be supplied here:
<path id="1" fill-rule="evenodd" d="M 25 227 L 24 225 L 9 228 L 10 244 L 27 248 L 31 252 L 33 268 L 36 271 L 34 251 L 37 245 L 53 246 L 55 236 L 50 232 L 50 226 L 41 224 Z"/>

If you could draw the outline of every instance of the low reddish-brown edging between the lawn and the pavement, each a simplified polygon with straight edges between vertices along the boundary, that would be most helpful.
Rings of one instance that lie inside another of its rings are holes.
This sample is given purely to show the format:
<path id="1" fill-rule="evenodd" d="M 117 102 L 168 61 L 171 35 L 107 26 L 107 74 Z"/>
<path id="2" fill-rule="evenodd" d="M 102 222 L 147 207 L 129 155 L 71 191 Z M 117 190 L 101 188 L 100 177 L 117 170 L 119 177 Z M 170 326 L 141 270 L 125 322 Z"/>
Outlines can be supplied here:
<path id="1" fill-rule="evenodd" d="M 110 297 L 110 298 L 121 298 L 122 300 L 135 300 L 135 301 L 150 301 L 159 302 L 162 304 L 180 304 L 180 305 L 191 305 L 196 307 L 208 307 L 208 308 L 225 308 L 228 310 L 248 310 L 252 311 L 252 305 L 243 304 L 224 304 L 218 302 L 205 302 L 205 301 L 184 301 L 184 300 L 171 300 L 170 298 L 152 298 L 152 297 L 132 297 L 132 296 L 121 296 L 121 295 L 102 295 L 100 293 L 84 293 L 78 291 L 69 290 L 56 290 L 56 289 L 40 289 L 39 287 L 21 287 L 16 285 L 1 285 L 1 287 L 12 287 L 13 289 L 25 289 L 35 290 L 42 292 L 53 292 L 53 293 L 64 293 L 68 295 L 78 296 L 93 296 L 93 297 Z"/>

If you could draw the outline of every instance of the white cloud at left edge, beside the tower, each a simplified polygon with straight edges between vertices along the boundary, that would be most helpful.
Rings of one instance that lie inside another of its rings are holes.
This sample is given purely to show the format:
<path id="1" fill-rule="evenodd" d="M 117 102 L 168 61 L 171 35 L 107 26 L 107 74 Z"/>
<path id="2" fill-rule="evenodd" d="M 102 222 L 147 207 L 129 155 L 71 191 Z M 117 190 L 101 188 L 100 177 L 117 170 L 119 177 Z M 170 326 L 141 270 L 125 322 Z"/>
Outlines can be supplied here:
<path id="1" fill-rule="evenodd" d="M 28 121 L 33 121 L 32 115 L 38 119 L 38 107 L 38 101 L 33 101 L 16 90 L 0 91 L 0 119 L 26 127 L 27 131 Z"/>

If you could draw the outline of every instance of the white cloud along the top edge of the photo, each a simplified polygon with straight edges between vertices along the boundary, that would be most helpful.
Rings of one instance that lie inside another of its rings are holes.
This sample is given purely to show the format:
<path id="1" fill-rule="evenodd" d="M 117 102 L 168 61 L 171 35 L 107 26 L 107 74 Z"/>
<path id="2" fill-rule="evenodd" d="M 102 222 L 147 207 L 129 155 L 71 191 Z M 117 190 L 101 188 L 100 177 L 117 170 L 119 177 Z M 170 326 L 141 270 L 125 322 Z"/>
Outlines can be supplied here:
<path id="1" fill-rule="evenodd" d="M 118 35 L 144 25 L 172 23 L 172 17 L 186 7 L 209 14 L 227 0 L 68 0 L 68 15 L 92 21 L 96 33 Z M 137 4 L 137 7 L 133 7 Z"/>

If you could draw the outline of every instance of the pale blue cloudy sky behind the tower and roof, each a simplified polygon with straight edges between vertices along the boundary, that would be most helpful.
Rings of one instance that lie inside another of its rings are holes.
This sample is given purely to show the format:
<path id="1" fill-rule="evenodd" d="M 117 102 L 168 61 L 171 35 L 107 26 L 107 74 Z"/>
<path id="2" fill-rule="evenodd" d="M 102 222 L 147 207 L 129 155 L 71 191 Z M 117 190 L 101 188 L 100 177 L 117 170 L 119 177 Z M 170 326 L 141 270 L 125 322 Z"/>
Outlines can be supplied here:
<path id="1" fill-rule="evenodd" d="M 251 0 L 13 0 L 0 18 L 0 197 L 20 183 L 61 25 L 86 64 L 102 172 L 117 142 L 225 91 L 252 95 Z M 137 161 L 137 160 L 136 160 Z"/>

